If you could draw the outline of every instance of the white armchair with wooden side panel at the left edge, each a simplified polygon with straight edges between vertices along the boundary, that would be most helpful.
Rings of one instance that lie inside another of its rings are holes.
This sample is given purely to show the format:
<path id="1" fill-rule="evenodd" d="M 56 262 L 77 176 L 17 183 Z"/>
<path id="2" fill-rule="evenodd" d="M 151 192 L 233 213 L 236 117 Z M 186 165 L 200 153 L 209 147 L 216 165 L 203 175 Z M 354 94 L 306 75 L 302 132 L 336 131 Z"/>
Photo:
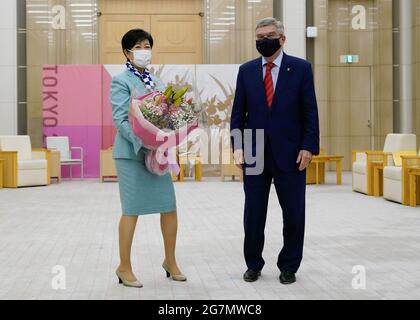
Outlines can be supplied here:
<path id="1" fill-rule="evenodd" d="M 47 150 L 32 149 L 29 136 L 0 136 L 6 188 L 49 184 Z"/>

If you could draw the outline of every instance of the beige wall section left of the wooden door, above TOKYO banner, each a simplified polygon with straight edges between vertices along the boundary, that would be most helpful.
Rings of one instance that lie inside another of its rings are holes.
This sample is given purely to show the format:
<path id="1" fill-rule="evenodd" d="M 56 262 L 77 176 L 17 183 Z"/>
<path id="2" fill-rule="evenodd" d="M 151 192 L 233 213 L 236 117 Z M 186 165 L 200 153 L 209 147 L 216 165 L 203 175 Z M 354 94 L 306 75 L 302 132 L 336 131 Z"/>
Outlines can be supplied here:
<path id="1" fill-rule="evenodd" d="M 78 4 L 92 7 L 68 6 L 66 0 L 27 0 L 27 102 L 28 134 L 35 147 L 42 146 L 42 66 L 45 64 L 94 64 L 98 62 L 96 1 L 80 0 Z M 66 8 L 66 29 L 54 30 L 48 23 L 55 5 Z M 93 10 L 76 13 L 72 10 Z M 73 18 L 73 14 L 88 15 L 90 19 Z M 77 20 L 91 20 L 78 26 Z M 89 26 L 88 26 L 89 24 Z"/>

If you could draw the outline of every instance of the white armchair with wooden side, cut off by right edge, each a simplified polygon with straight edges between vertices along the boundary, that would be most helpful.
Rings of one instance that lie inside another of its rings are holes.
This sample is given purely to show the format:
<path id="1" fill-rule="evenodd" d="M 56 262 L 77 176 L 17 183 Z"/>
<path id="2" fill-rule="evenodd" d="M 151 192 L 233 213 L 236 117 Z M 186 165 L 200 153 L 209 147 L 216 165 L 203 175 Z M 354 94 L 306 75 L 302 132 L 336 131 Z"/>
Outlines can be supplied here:
<path id="1" fill-rule="evenodd" d="M 420 167 L 420 151 L 418 156 L 405 155 L 401 158 L 401 165 L 384 168 L 384 198 L 409 205 L 408 171 L 411 167 Z"/>

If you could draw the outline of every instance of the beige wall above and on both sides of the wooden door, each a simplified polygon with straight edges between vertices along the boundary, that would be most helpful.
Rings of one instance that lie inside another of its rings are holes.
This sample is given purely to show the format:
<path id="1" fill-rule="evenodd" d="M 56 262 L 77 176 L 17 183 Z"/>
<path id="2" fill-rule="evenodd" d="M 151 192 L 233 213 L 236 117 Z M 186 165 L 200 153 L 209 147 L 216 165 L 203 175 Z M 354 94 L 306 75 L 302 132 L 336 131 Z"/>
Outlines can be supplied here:
<path id="1" fill-rule="evenodd" d="M 96 8 L 104 15 L 132 12 L 198 17 L 205 11 L 203 59 L 210 64 L 237 64 L 257 57 L 256 22 L 273 15 L 273 0 L 78 0 L 69 4 L 68 0 L 27 0 L 28 133 L 36 147 L 42 145 L 42 66 L 100 62 Z M 75 4 L 88 6 L 78 8 Z M 53 30 L 47 23 L 54 5 L 67 10 L 65 30 Z M 93 10 L 89 26 L 77 26 L 75 20 L 80 18 L 73 17 L 77 9 Z M 231 19 L 226 20 L 228 17 Z"/>

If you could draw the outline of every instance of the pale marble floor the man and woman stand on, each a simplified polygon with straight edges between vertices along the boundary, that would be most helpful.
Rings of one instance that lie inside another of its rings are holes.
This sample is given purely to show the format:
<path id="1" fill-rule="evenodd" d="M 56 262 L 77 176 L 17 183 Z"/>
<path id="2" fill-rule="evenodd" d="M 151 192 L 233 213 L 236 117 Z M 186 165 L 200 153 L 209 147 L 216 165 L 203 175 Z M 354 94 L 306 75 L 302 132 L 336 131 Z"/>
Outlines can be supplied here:
<path id="1" fill-rule="evenodd" d="M 159 216 L 139 220 L 133 246 L 142 289 L 118 285 L 118 185 L 64 181 L 0 190 L 0 299 L 419 299 L 420 208 L 309 186 L 298 282 L 278 281 L 282 217 L 274 188 L 260 281 L 242 280 L 239 182 L 176 183 L 178 260 L 188 282 L 166 279 Z"/>

